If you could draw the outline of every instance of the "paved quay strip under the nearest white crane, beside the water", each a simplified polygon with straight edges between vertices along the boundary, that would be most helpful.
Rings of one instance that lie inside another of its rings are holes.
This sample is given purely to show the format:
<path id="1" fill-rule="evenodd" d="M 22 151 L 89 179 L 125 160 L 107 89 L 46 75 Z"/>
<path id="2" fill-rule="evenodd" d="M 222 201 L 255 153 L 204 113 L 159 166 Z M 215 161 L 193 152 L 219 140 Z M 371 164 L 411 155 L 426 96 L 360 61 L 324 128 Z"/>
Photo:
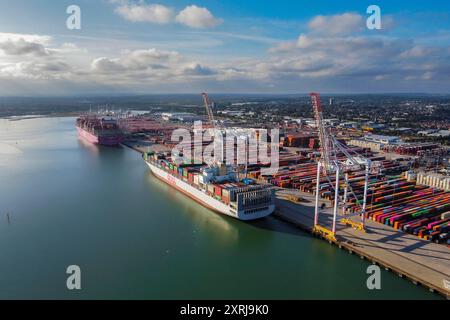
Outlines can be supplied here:
<path id="1" fill-rule="evenodd" d="M 289 200 L 291 195 L 303 201 L 294 203 Z M 327 208 L 321 211 L 319 224 L 329 227 L 332 209 L 330 203 L 323 202 Z M 274 216 L 312 233 L 314 197 L 297 190 L 279 189 Z M 450 249 L 447 246 L 371 220 L 366 220 L 366 232 L 339 223 L 336 234 L 336 241 L 329 241 L 331 244 L 450 299 Z"/>

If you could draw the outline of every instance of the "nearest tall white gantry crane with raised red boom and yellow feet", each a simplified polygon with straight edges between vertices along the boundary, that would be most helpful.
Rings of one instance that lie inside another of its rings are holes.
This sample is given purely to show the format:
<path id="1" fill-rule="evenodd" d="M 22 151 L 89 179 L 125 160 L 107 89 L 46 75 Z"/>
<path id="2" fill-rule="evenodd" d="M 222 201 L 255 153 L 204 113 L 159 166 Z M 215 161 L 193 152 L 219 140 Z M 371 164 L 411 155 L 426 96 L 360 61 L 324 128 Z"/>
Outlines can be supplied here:
<path id="1" fill-rule="evenodd" d="M 359 200 L 353 192 L 353 189 L 348 180 L 348 173 L 359 168 L 365 170 L 365 182 L 364 182 L 364 194 L 363 203 L 361 208 L 361 222 L 356 223 L 348 218 L 342 220 L 343 223 L 349 224 L 352 227 L 364 230 L 365 229 L 365 215 L 367 205 L 367 191 L 369 183 L 369 175 L 372 168 L 372 162 L 369 159 L 362 157 L 359 154 L 353 152 L 346 145 L 342 144 L 331 134 L 329 128 L 326 127 L 323 121 L 322 106 L 320 103 L 320 95 L 318 93 L 311 93 L 311 102 L 314 110 L 314 117 L 316 120 L 316 126 L 319 133 L 319 141 L 321 147 L 321 156 L 317 162 L 317 177 L 316 177 L 316 199 L 315 199 L 315 212 L 314 212 L 314 229 L 315 233 L 318 233 L 329 240 L 336 240 L 336 222 L 337 214 L 340 205 L 340 178 L 344 175 L 344 199 L 343 199 L 343 212 L 346 211 L 346 203 L 349 196 L 356 198 L 357 204 Z M 320 179 L 321 174 L 326 177 L 332 189 L 334 189 L 334 208 L 333 208 L 333 225 L 332 229 L 328 229 L 319 224 L 319 199 L 320 199 Z M 333 185 L 330 176 L 335 176 L 335 184 Z"/>

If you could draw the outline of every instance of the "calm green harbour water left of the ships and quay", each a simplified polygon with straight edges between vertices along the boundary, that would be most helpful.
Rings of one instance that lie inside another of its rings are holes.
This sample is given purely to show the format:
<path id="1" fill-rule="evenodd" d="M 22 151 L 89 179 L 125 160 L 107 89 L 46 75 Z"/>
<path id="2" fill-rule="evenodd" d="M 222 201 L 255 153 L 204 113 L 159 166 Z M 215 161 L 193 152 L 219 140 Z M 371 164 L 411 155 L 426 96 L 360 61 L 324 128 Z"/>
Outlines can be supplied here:
<path id="1" fill-rule="evenodd" d="M 439 299 L 384 270 L 368 290 L 367 261 L 273 217 L 213 213 L 74 122 L 0 119 L 0 298 Z"/>

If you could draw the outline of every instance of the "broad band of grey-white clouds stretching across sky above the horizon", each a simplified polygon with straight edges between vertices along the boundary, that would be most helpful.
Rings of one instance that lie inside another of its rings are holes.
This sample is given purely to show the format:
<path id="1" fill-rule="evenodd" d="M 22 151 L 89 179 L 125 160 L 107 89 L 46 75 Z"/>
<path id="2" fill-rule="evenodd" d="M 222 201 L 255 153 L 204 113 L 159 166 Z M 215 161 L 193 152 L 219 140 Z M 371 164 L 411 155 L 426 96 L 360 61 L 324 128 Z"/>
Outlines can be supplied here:
<path id="1" fill-rule="evenodd" d="M 298 38 L 279 43 L 270 48 L 267 55 L 258 56 L 243 56 L 245 51 L 236 51 L 236 54 L 218 57 L 210 54 L 211 51 L 202 55 L 200 50 L 189 56 L 192 50 L 186 48 L 186 43 L 190 38 L 183 38 L 176 45 L 153 43 L 155 48 L 148 48 L 146 42 L 140 41 L 112 43 L 99 39 L 88 46 L 87 51 L 82 42 L 80 47 L 72 43 L 55 45 L 48 36 L 0 33 L 0 80 L 2 83 L 16 80 L 16 83 L 31 86 L 33 81 L 39 81 L 48 86 L 49 92 L 63 82 L 59 80 L 64 80 L 67 87 L 165 92 L 186 92 L 202 87 L 201 90 L 213 88 L 224 92 L 266 92 L 267 88 L 293 92 L 307 91 L 309 87 L 342 92 L 367 92 L 373 88 L 379 91 L 448 90 L 448 46 L 364 30 L 358 34 L 348 27 L 352 23 L 341 24 L 338 31 L 330 33 L 324 27 L 328 22 L 317 17 L 312 21 L 315 23 L 311 29 Z M 206 25 L 212 26 L 211 23 Z M 203 39 L 201 36 L 215 33 L 190 31 L 183 37 L 193 34 L 198 37 L 195 39 Z M 177 40 L 171 39 L 172 42 Z M 7 47 L 6 43 L 15 45 Z M 129 50 L 120 51 L 123 47 Z M 45 52 L 51 54 L 42 54 Z"/>

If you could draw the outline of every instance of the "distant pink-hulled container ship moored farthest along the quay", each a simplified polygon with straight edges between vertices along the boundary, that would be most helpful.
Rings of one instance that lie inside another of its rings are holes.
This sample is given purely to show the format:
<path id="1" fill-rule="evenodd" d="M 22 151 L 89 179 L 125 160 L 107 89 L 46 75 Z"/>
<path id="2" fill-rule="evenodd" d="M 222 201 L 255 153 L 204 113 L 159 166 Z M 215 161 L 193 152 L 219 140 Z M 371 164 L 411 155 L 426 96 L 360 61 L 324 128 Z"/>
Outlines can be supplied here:
<path id="1" fill-rule="evenodd" d="M 76 120 L 76 127 L 78 135 L 93 144 L 117 146 L 124 139 L 117 119 L 111 115 L 82 115 Z"/>

